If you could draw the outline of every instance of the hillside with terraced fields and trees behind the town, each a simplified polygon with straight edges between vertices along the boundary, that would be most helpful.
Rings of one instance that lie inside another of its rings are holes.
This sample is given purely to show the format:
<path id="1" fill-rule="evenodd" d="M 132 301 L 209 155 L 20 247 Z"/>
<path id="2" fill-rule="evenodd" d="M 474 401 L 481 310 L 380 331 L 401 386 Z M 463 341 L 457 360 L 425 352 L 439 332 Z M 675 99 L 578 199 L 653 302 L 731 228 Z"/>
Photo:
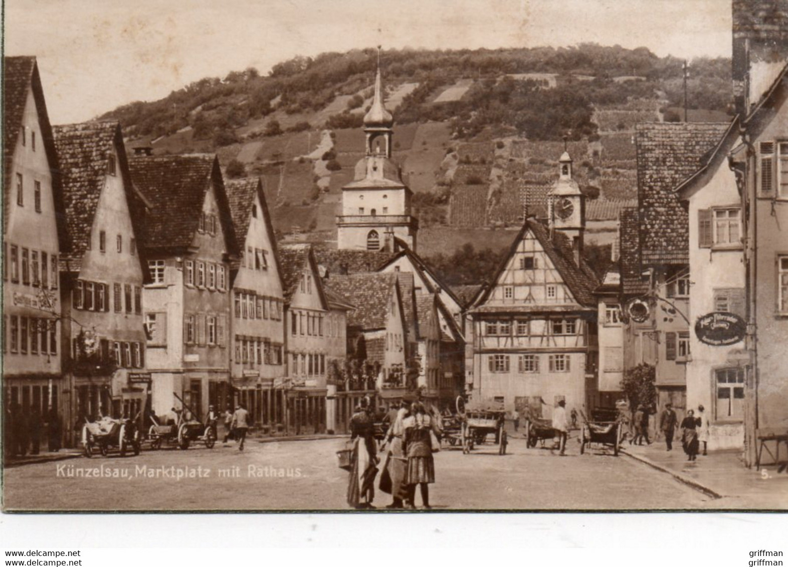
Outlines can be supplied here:
<path id="1" fill-rule="evenodd" d="M 262 177 L 279 232 L 332 240 L 341 187 L 363 155 L 376 65 L 374 50 L 296 57 L 267 76 L 206 78 L 102 118 L 121 121 L 129 147 L 216 151 L 229 176 Z M 690 65 L 689 119 L 727 120 L 730 60 Z M 443 227 L 434 254 L 543 214 L 564 136 L 586 195 L 630 202 L 634 124 L 678 120 L 683 104 L 682 61 L 645 48 L 390 50 L 381 70 L 415 214 L 422 228 Z"/>

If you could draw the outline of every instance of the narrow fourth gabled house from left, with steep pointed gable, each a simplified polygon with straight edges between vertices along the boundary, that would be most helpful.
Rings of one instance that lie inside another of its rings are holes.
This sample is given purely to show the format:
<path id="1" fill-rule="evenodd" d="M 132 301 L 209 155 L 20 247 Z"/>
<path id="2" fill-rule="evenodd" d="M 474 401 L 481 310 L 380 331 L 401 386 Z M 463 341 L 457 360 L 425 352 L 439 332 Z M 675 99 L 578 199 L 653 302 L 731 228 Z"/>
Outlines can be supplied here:
<path id="1" fill-rule="evenodd" d="M 275 382 L 284 377 L 284 294 L 277 243 L 259 179 L 226 182 L 241 248 L 232 264 L 231 380 L 258 423 L 274 415 Z"/>

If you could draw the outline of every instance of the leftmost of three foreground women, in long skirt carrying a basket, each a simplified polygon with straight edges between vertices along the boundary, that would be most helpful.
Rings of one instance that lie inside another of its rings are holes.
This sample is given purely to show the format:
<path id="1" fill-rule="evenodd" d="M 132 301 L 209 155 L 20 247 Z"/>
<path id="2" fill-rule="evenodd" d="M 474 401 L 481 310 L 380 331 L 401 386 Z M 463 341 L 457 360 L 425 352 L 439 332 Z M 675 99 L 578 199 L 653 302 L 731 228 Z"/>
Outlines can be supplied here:
<path id="1" fill-rule="evenodd" d="M 352 467 L 348 483 L 348 504 L 354 508 L 373 508 L 375 476 L 377 476 L 377 443 L 372 416 L 357 406 L 350 421 L 353 442 Z"/>

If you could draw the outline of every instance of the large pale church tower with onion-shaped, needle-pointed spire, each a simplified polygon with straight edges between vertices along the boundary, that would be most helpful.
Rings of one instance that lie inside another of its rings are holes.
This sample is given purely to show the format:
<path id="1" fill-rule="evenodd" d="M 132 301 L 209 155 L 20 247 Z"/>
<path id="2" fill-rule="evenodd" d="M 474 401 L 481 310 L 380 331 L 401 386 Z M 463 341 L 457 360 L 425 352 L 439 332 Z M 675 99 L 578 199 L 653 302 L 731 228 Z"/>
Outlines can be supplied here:
<path id="1" fill-rule="evenodd" d="M 342 210 L 336 217 L 340 250 L 393 250 L 395 238 L 416 250 L 418 221 L 411 217 L 411 190 L 392 161 L 393 127 L 378 62 L 372 106 L 364 116 L 364 157 L 355 165 L 353 181 L 342 187 Z"/>

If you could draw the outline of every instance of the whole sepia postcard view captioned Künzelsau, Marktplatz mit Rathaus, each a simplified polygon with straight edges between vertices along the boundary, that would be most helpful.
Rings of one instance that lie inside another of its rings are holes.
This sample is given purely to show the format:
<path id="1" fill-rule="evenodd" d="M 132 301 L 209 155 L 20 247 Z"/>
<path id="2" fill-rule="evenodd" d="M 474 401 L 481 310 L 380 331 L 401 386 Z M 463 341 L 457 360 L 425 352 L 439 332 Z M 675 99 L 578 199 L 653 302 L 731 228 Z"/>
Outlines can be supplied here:
<path id="1" fill-rule="evenodd" d="M 4 512 L 788 509 L 788 0 L 4 9 Z"/>

